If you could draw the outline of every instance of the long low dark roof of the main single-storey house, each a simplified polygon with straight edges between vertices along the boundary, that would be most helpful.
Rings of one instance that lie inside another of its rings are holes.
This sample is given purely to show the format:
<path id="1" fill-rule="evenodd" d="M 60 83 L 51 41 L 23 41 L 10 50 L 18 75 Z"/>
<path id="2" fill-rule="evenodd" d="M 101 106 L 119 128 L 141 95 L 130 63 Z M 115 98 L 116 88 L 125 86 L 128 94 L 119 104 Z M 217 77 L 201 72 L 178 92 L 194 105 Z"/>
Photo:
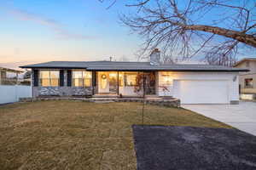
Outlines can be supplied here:
<path id="1" fill-rule="evenodd" d="M 222 65 L 150 65 L 149 62 L 51 61 L 20 68 L 67 68 L 88 71 L 248 71 Z"/>

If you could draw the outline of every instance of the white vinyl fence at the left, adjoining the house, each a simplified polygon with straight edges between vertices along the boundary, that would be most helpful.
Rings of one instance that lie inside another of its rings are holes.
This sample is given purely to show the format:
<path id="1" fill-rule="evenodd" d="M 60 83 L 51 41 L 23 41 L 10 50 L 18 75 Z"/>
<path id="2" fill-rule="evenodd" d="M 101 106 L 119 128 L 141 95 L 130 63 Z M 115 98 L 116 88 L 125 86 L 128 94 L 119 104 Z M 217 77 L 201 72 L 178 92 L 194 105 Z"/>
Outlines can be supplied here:
<path id="1" fill-rule="evenodd" d="M 5 86 L 0 85 L 0 104 L 19 101 L 20 98 L 31 97 L 30 86 Z"/>

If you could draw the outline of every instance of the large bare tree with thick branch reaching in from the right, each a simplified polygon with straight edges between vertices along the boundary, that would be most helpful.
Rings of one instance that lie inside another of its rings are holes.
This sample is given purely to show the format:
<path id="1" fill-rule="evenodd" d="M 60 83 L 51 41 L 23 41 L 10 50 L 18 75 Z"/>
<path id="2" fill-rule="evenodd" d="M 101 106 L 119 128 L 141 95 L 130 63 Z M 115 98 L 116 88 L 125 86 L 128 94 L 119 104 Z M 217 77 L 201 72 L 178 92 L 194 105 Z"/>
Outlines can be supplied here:
<path id="1" fill-rule="evenodd" d="M 255 0 L 131 2 L 126 6 L 137 12 L 123 14 L 121 21 L 144 38 L 141 57 L 157 47 L 168 56 L 164 60 L 204 56 L 210 64 L 233 65 L 238 49 L 256 50 Z"/>

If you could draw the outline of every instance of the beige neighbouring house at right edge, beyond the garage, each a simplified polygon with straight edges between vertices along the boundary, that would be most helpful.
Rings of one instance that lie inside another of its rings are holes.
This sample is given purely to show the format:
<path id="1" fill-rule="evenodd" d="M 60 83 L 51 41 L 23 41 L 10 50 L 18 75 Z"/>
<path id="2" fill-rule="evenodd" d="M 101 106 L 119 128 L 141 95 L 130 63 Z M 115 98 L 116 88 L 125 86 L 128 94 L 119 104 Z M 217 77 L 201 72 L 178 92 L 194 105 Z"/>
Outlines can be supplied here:
<path id="1" fill-rule="evenodd" d="M 239 75 L 241 94 L 256 94 L 256 58 L 241 59 L 235 67 L 250 70 Z"/>

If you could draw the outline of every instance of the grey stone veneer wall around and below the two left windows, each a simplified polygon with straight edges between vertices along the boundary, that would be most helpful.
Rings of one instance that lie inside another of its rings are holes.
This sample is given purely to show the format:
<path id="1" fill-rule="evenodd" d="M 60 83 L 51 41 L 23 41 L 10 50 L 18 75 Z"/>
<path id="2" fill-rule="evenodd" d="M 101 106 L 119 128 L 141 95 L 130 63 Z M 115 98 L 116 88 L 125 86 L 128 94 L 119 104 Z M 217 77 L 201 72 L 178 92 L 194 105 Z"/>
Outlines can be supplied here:
<path id="1" fill-rule="evenodd" d="M 63 87 L 41 87 L 38 74 L 38 86 L 34 86 L 34 71 L 32 70 L 32 96 L 88 96 L 92 95 L 92 87 L 68 87 L 67 86 L 67 70 L 64 70 L 64 86 Z"/>

